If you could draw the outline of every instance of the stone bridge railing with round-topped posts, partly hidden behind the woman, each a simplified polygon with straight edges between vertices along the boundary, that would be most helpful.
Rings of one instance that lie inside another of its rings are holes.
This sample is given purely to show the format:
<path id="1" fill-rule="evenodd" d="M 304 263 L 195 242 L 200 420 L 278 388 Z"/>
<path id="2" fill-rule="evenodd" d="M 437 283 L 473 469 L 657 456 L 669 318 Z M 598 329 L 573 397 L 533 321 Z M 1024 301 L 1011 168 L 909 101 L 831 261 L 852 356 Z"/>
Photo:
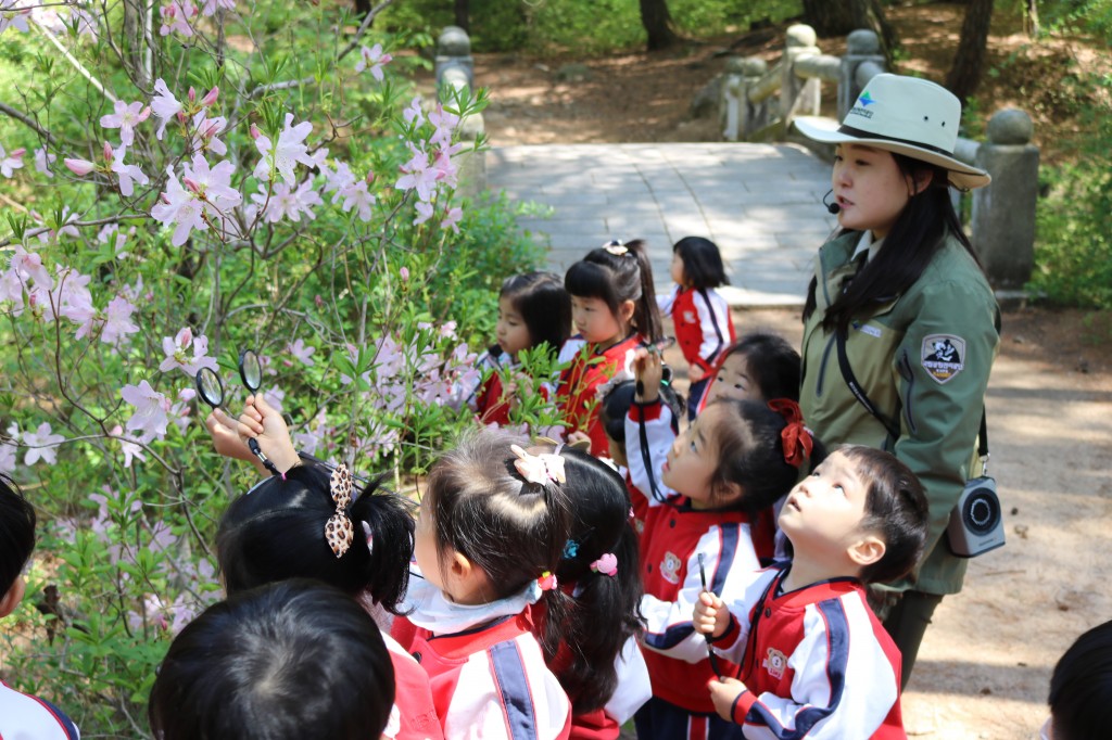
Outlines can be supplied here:
<path id="1" fill-rule="evenodd" d="M 818 116 L 823 82 L 837 84 L 837 120 L 842 120 L 873 77 L 885 71 L 873 31 L 857 30 L 846 39 L 846 53 L 832 57 L 815 46 L 810 26 L 787 29 L 784 54 L 772 69 L 765 60 L 735 57 L 726 62 L 718 97 L 723 138 L 727 141 L 793 139 L 827 159 L 833 147 L 793 136 L 792 120 Z M 1023 288 L 1034 264 L 1035 202 L 1039 149 L 1031 143 L 1031 118 L 1006 109 L 989 121 L 989 139 L 960 138 L 955 157 L 987 170 L 992 184 L 971 194 L 970 231 L 992 286 L 1001 294 Z M 963 209 L 964 210 L 964 209 Z"/>

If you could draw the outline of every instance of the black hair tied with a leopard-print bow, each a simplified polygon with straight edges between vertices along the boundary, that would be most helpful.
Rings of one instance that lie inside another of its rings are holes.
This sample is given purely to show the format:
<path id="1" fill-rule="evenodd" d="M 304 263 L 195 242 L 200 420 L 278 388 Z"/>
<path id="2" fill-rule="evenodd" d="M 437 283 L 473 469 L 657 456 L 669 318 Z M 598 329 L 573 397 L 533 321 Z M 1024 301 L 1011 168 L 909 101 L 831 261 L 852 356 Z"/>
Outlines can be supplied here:
<path id="1" fill-rule="evenodd" d="M 231 502 L 217 532 L 217 559 L 228 593 L 287 578 L 312 578 L 351 596 L 366 592 L 397 613 L 409 582 L 414 504 L 378 491 L 381 479 L 353 491 L 346 513 L 355 540 L 337 558 L 325 539 L 325 526 L 336 513 L 331 472 L 326 464 L 306 460 L 291 468 L 286 480 L 269 478 Z"/>

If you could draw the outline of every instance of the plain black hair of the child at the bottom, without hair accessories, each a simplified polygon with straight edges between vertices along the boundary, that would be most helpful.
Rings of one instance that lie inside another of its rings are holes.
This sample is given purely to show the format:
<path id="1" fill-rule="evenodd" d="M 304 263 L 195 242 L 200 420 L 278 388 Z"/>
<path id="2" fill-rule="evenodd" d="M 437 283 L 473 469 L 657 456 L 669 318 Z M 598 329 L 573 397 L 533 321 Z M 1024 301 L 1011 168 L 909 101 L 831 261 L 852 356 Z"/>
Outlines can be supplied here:
<path id="1" fill-rule="evenodd" d="M 341 591 L 291 580 L 245 591 L 170 644 L 147 714 L 160 740 L 377 738 L 394 666 L 375 621 Z"/>

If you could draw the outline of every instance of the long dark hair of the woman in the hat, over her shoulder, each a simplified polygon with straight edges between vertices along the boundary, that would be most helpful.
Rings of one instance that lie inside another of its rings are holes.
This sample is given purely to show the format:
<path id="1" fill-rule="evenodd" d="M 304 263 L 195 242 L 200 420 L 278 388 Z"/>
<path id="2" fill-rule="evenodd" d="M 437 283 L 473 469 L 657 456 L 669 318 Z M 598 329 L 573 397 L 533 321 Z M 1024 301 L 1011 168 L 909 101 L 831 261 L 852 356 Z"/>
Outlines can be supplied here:
<path id="1" fill-rule="evenodd" d="M 892 157 L 895 158 L 901 174 L 912 181 L 921 180 L 925 172 L 933 172 L 931 183 L 907 201 L 892 231 L 884 239 L 884 247 L 826 309 L 823 317 L 825 331 L 845 332 L 854 318 L 867 313 L 877 303 L 903 294 L 920 279 L 942 249 L 947 236 L 957 239 L 977 267 L 981 267 L 981 260 L 973 251 L 973 244 L 965 236 L 950 200 L 950 173 L 941 167 L 911 157 L 894 152 Z M 837 236 L 844 233 L 848 233 L 848 230 L 842 230 Z M 817 287 L 817 278 L 812 278 L 803 308 L 804 321 L 815 310 Z"/>

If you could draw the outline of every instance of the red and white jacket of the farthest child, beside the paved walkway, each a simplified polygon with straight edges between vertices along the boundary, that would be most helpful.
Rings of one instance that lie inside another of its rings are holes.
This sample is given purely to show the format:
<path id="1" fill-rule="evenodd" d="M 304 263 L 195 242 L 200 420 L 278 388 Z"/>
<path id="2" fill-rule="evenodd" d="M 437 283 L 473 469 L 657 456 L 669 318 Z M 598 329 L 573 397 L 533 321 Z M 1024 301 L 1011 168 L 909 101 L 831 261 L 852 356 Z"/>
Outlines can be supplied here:
<path id="1" fill-rule="evenodd" d="M 718 354 L 735 339 L 729 303 L 714 288 L 682 288 L 657 299 L 661 313 L 672 317 L 676 341 L 687 364 L 711 373 Z"/>

